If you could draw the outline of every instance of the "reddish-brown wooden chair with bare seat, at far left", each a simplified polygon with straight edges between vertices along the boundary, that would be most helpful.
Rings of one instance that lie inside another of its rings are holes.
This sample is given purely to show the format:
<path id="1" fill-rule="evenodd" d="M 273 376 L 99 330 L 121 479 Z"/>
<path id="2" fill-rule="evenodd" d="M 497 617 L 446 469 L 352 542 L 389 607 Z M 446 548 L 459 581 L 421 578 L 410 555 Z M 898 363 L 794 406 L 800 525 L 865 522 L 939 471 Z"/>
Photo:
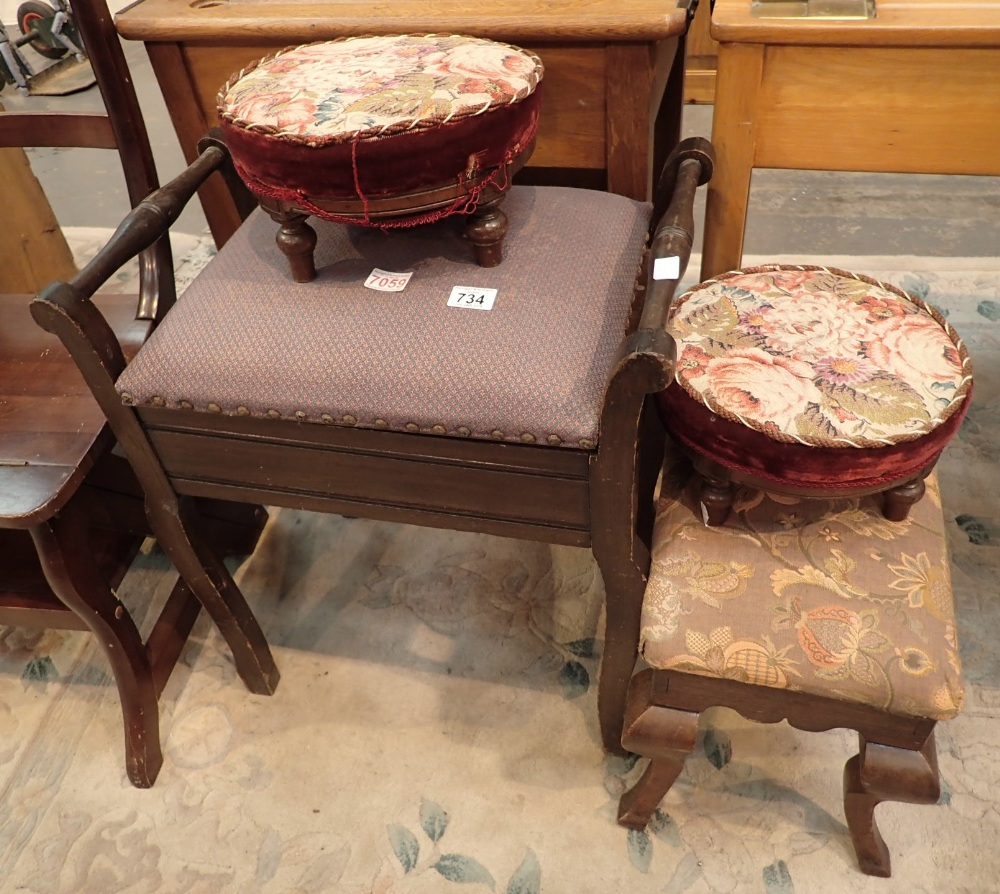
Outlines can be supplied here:
<path id="1" fill-rule="evenodd" d="M 74 3 L 107 115 L 6 112 L 0 146 L 117 150 L 133 205 L 156 188 L 152 153 L 118 35 L 103 0 Z M 140 257 L 135 295 L 95 307 L 129 356 L 174 302 L 166 237 Z M 82 281 L 96 286 L 87 274 Z M 93 289 L 90 289 L 93 291 Z M 148 534 L 143 494 L 75 364 L 29 312 L 29 294 L 0 295 L 0 623 L 91 630 L 121 698 L 128 777 L 152 785 L 162 763 L 157 699 L 197 616 L 179 582 L 145 642 L 115 588 Z M 203 507 L 223 550 L 252 548 L 256 507 Z M 271 692 L 277 672 L 236 592 L 209 606 L 235 644 L 248 686 Z"/>

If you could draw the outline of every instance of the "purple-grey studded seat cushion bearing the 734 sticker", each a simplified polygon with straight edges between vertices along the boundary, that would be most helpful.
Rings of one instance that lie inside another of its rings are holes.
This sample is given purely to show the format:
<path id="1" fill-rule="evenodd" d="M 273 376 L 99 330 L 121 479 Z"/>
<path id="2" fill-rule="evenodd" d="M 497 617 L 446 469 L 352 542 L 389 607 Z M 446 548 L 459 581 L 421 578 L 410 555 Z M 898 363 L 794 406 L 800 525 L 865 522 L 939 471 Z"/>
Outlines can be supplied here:
<path id="1" fill-rule="evenodd" d="M 387 233 L 324 223 L 311 283 L 288 281 L 256 211 L 118 390 L 137 406 L 590 449 L 651 208 L 565 187 L 515 186 L 506 202 L 499 267 L 476 266 L 454 218 Z M 413 276 L 376 291 L 376 268 Z M 455 287 L 496 289 L 492 310 L 448 306 Z"/>

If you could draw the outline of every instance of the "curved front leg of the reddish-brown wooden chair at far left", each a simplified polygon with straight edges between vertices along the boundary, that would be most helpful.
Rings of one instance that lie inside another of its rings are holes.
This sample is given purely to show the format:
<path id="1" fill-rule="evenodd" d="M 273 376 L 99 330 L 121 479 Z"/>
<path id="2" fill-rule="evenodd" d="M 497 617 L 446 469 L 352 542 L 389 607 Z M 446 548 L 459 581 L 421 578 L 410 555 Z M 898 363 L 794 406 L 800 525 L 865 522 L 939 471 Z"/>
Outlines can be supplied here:
<path id="1" fill-rule="evenodd" d="M 72 506 L 32 528 L 31 538 L 52 591 L 86 622 L 111 665 L 125 725 L 128 778 L 149 788 L 163 753 L 156 685 L 135 622 L 95 565 L 86 524 Z"/>

